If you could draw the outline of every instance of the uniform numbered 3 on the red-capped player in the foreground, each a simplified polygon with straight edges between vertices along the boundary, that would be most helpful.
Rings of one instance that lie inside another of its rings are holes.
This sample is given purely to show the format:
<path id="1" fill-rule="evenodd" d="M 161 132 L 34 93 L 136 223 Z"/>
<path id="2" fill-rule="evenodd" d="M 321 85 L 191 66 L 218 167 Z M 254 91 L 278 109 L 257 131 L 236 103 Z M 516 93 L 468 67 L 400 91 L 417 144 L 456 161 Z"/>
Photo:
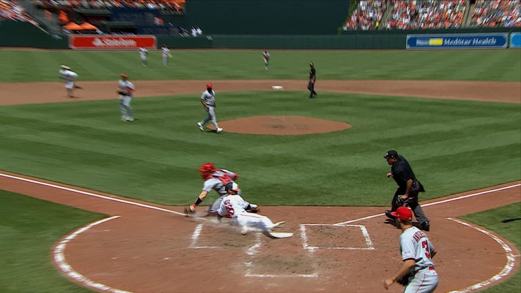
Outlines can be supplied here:
<path id="1" fill-rule="evenodd" d="M 424 231 L 411 227 L 400 235 L 400 252 L 402 260 L 414 259 L 414 265 L 409 284 L 404 292 L 430 293 L 438 286 L 438 274 L 435 265 L 430 258 L 434 246 Z"/>

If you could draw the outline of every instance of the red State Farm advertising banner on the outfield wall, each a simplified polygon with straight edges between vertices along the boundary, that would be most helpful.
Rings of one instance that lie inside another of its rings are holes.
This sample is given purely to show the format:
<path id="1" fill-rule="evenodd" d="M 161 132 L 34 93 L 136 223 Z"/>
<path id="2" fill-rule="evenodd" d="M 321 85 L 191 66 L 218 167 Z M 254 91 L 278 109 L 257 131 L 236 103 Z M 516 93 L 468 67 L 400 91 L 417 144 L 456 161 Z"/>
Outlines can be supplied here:
<path id="1" fill-rule="evenodd" d="M 129 50 L 156 48 L 155 35 L 70 34 L 69 48 L 84 50 Z"/>

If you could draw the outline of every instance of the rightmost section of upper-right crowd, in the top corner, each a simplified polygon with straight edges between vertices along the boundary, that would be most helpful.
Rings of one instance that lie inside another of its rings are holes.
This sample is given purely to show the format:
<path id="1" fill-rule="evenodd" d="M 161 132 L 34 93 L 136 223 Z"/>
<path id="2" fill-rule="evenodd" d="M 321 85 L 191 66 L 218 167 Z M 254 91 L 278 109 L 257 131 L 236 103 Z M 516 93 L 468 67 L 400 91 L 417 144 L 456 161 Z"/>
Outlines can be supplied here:
<path id="1" fill-rule="evenodd" d="M 521 4 L 519 0 L 478 0 L 470 26 L 521 27 Z"/>

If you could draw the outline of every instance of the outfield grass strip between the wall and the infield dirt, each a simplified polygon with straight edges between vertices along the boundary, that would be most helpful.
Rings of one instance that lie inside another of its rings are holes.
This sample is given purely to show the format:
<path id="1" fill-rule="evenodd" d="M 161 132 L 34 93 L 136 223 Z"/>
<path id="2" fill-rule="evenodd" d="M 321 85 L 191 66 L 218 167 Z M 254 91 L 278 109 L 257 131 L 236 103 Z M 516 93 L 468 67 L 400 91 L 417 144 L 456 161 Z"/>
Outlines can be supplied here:
<path id="1" fill-rule="evenodd" d="M 317 78 L 521 81 L 519 50 L 455 51 L 270 51 L 264 70 L 262 51 L 173 50 L 170 66 L 158 51 L 141 66 L 138 51 L 0 50 L 0 82 L 58 81 L 60 64 L 79 80 L 306 79 L 314 62 Z"/>

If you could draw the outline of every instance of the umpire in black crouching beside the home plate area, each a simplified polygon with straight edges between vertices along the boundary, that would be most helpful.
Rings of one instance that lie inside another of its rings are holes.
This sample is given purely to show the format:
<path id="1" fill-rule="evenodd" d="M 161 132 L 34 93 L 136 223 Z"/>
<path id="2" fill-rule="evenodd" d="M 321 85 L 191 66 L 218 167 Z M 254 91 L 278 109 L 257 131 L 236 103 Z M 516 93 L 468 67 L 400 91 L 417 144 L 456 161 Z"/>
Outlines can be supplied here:
<path id="1" fill-rule="evenodd" d="M 398 184 L 398 189 L 396 189 L 391 202 L 391 210 L 387 210 L 386 215 L 394 219 L 391 212 L 398 210 L 398 207 L 400 207 L 398 197 L 407 194 L 407 199 L 410 199 L 410 201 L 406 205 L 411 207 L 421 228 L 428 231 L 430 229 L 429 219 L 425 216 L 423 209 L 421 209 L 418 203 L 418 193 L 425 192 L 425 189 L 420 181 L 416 179 L 411 165 L 409 165 L 403 156 L 398 155 L 394 150 L 388 151 L 383 157 L 386 158 L 387 163 L 391 165 L 391 173 L 387 174 L 388 177 L 392 177 L 394 181 L 396 181 L 396 184 Z"/>

